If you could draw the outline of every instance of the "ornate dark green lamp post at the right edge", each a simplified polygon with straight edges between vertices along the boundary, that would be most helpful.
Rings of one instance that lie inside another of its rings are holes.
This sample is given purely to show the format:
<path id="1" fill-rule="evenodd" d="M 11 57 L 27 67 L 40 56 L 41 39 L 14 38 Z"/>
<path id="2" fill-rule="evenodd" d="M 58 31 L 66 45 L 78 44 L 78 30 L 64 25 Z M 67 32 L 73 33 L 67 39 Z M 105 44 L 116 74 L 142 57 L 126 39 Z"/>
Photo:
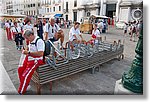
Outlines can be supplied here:
<path id="1" fill-rule="evenodd" d="M 131 69 L 122 76 L 122 84 L 124 88 L 134 93 L 143 93 L 143 25 L 135 52 Z"/>

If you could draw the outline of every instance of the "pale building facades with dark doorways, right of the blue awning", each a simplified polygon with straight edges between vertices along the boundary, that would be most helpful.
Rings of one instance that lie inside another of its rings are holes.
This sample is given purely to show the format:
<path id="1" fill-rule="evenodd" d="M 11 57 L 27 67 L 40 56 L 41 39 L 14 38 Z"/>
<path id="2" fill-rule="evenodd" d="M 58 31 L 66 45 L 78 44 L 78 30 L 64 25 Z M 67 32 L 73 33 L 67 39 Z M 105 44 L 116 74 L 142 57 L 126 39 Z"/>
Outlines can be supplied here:
<path id="1" fill-rule="evenodd" d="M 80 21 L 90 15 L 108 16 L 115 21 L 132 21 L 143 0 L 64 0 L 64 18 Z M 68 6 L 67 6 L 68 5 Z M 142 10 L 141 10 L 142 11 Z"/>

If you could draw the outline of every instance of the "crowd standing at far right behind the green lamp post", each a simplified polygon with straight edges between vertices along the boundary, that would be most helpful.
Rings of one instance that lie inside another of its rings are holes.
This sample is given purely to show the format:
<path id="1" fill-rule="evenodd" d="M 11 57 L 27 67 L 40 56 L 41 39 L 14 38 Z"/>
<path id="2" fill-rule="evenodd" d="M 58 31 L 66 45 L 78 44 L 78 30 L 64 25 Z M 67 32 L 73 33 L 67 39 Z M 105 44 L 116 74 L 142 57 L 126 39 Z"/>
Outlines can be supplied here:
<path id="1" fill-rule="evenodd" d="M 125 23 L 124 26 L 124 36 L 130 35 L 130 41 L 136 41 L 142 28 L 142 21 L 133 21 Z"/>

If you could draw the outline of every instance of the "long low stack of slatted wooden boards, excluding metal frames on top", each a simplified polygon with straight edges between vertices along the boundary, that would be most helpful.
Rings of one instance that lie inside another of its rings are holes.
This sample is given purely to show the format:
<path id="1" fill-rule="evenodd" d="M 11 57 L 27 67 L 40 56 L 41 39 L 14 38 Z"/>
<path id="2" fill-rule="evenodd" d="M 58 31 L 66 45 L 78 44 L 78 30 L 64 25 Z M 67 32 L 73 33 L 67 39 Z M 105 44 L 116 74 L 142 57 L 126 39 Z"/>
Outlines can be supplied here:
<path id="1" fill-rule="evenodd" d="M 37 94 L 41 94 L 41 87 L 46 83 L 50 83 L 50 94 L 52 94 L 52 82 L 87 69 L 92 69 L 92 73 L 99 70 L 103 63 L 106 63 L 114 58 L 123 59 L 124 46 L 121 45 L 116 51 L 101 51 L 94 53 L 90 58 L 80 57 L 78 59 L 69 60 L 68 63 L 57 66 L 57 70 L 45 64 L 40 66 L 33 74 L 32 81 L 36 84 Z M 78 64 L 77 64 L 78 63 Z M 98 68 L 98 69 L 97 69 Z"/>

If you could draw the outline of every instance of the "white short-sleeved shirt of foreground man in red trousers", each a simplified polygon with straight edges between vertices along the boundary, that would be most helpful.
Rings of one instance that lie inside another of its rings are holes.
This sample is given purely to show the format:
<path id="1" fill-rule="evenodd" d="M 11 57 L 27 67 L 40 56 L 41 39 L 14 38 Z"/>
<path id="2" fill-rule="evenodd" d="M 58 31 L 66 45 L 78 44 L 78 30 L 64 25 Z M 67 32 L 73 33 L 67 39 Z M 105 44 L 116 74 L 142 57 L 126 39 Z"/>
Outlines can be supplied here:
<path id="1" fill-rule="evenodd" d="M 43 51 L 45 50 L 45 44 L 44 41 L 42 39 L 38 39 L 39 37 L 36 36 L 35 39 L 28 45 L 29 46 L 29 51 L 30 52 L 37 52 L 37 51 Z M 35 42 L 37 40 L 37 43 L 35 45 Z M 33 43 L 33 44 L 32 44 Z M 33 58 L 31 56 L 28 57 L 28 60 L 39 60 L 39 59 L 43 59 L 43 57 L 38 57 L 38 58 Z"/>

